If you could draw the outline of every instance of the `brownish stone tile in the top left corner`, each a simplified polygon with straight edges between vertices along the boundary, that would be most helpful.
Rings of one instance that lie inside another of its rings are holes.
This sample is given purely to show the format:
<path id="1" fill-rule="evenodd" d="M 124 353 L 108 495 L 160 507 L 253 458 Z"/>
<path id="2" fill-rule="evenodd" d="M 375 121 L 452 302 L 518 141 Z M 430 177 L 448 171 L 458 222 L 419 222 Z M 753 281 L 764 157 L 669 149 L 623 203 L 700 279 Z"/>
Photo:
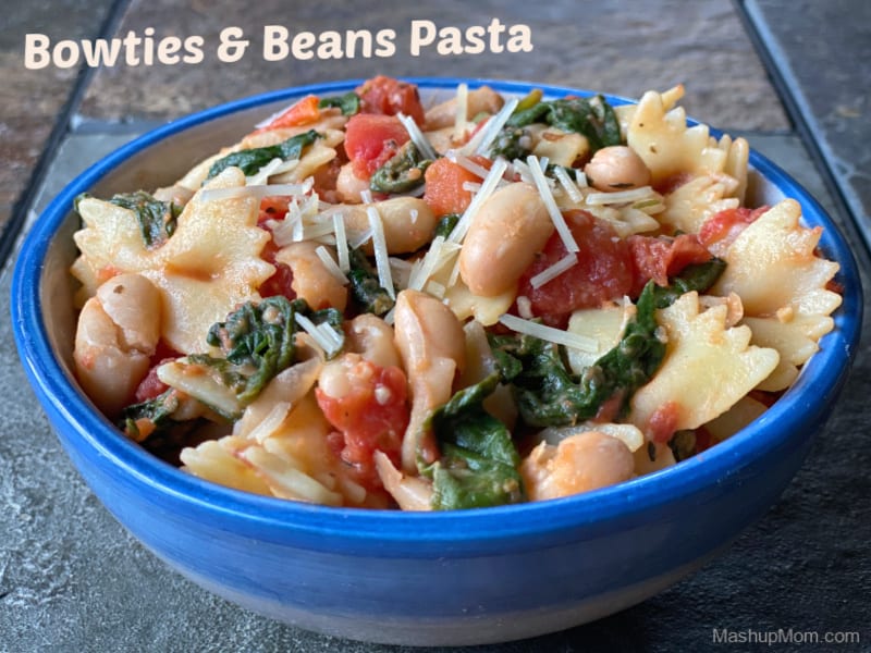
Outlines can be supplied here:
<path id="1" fill-rule="evenodd" d="M 7 2 L 0 26 L 0 230 L 30 182 L 59 112 L 75 85 L 75 67 L 24 65 L 26 34 L 61 39 L 94 38 L 107 0 Z"/>

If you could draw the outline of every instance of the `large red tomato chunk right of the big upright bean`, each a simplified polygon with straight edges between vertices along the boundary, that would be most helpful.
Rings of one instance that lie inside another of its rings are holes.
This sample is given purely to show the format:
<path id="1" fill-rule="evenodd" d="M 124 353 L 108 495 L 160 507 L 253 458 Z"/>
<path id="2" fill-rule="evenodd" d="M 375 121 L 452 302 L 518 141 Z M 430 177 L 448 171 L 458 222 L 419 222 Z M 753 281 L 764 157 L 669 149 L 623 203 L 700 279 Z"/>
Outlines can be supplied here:
<path id="1" fill-rule="evenodd" d="M 529 298 L 533 316 L 561 328 L 572 311 L 594 308 L 609 299 L 623 297 L 633 283 L 629 247 L 608 222 L 580 210 L 564 215 L 580 247 L 578 262 L 544 285 L 532 287 L 530 280 L 536 274 L 568 252 L 559 233 L 554 232 L 541 255 L 520 276 L 517 292 L 519 296 Z"/>

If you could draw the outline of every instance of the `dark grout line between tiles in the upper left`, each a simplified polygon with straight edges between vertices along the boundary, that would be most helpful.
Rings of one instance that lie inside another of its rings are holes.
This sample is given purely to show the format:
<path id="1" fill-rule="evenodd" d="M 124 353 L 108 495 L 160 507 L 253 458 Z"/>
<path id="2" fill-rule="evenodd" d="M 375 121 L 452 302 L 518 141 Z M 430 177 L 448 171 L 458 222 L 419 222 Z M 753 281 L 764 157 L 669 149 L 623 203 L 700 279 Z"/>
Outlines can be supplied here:
<path id="1" fill-rule="evenodd" d="M 112 1 L 112 7 L 96 34 L 97 38 L 108 38 L 112 35 L 121 22 L 121 17 L 124 15 L 128 4 L 130 0 Z M 2 232 L 0 232 L 0 268 L 9 263 L 9 259 L 27 222 L 27 213 L 37 198 L 39 188 L 45 181 L 51 162 L 54 160 L 58 149 L 70 133 L 72 119 L 82 103 L 82 99 L 95 73 L 96 69 L 89 69 L 85 63 L 82 64 L 76 73 L 73 88 L 58 113 L 58 118 L 54 120 L 54 125 L 30 173 L 30 178 L 13 205 L 12 215 L 3 226 Z"/>

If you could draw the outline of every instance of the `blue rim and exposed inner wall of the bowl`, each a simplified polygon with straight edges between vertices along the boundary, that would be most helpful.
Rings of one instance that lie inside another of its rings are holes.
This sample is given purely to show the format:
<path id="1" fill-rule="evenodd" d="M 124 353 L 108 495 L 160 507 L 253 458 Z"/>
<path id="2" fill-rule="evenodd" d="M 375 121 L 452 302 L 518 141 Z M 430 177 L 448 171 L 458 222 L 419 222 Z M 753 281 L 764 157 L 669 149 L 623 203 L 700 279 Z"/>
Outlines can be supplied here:
<path id="1" fill-rule="evenodd" d="M 421 96 L 434 101 L 453 94 L 458 79 L 415 79 Z M 484 83 L 483 81 L 476 82 Z M 487 82 L 505 94 L 525 94 L 533 86 Z M 122 147 L 76 177 L 48 207 L 26 238 L 13 279 L 15 335 L 28 374 L 45 394 L 44 401 L 62 406 L 70 429 L 89 447 L 107 456 L 123 473 L 142 478 L 152 486 L 208 504 L 226 514 L 245 515 L 270 523 L 294 523 L 308 533 L 341 534 L 353 540 L 391 539 L 396 542 L 469 540 L 508 541 L 519 535 L 543 537 L 562 528 L 592 525 L 627 512 L 638 514 L 687 495 L 734 473 L 768 448 L 802 431 L 813 415 L 824 409 L 844 381 L 861 325 L 861 287 L 856 262 L 844 237 L 821 207 L 780 168 L 751 152 L 748 186 L 750 205 L 772 205 L 794 197 L 802 206 L 803 220 L 821 225 L 821 248 L 841 264 L 837 281 L 844 304 L 835 316 L 836 329 L 821 341 L 821 350 L 805 366 L 798 382 L 760 419 L 725 443 L 674 468 L 638 478 L 586 495 L 544 504 L 524 504 L 469 510 L 463 514 L 409 515 L 400 512 L 320 508 L 293 502 L 248 495 L 213 485 L 186 475 L 150 456 L 126 440 L 102 418 L 82 394 L 71 372 L 74 310 L 69 267 L 74 260 L 73 232 L 78 219 L 73 199 L 83 192 L 99 197 L 114 192 L 170 185 L 195 162 L 232 144 L 257 122 L 294 99 L 315 93 L 332 95 L 354 88 L 357 81 L 309 86 L 246 98 L 205 111 L 149 133 Z M 536 85 L 545 95 L 562 97 L 574 89 Z M 587 94 L 585 94 L 587 95 Z M 609 98 L 623 103 L 622 98 Z M 812 395 L 813 399 L 809 397 Z M 41 398 L 41 397 L 40 397 Z M 528 543 L 528 542 L 527 542 Z"/>

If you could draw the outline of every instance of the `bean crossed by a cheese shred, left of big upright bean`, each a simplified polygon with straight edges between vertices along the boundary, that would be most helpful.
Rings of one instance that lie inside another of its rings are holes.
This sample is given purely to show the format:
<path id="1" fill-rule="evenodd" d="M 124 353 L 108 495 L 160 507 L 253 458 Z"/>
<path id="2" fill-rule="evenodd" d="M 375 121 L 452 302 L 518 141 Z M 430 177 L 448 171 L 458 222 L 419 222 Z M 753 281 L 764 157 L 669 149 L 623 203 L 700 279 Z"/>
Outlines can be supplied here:
<path id="1" fill-rule="evenodd" d="M 410 254 L 432 239 L 438 219 L 419 197 L 392 197 L 373 205 L 339 205 L 338 210 L 348 232 L 363 233 L 369 229 L 367 206 L 378 209 L 389 254 Z M 363 250 L 372 254 L 371 239 L 363 246 Z"/>

